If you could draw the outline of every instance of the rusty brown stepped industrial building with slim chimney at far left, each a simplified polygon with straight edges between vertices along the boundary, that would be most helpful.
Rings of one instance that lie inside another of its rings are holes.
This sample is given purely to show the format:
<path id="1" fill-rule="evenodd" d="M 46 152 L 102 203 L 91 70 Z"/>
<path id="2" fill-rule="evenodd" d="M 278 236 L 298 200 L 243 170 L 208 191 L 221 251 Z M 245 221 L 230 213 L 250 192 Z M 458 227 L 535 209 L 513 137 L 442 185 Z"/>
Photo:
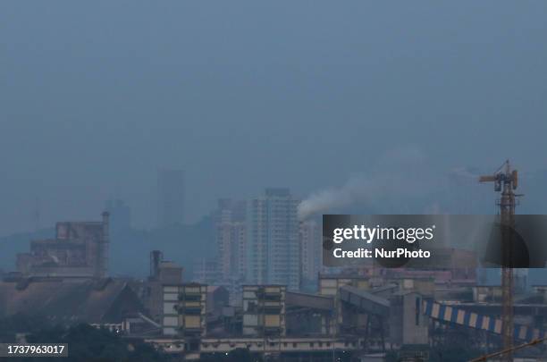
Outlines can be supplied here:
<path id="1" fill-rule="evenodd" d="M 103 278 L 108 270 L 109 215 L 101 222 L 63 222 L 55 239 L 32 240 L 30 252 L 17 255 L 24 276 Z"/>

